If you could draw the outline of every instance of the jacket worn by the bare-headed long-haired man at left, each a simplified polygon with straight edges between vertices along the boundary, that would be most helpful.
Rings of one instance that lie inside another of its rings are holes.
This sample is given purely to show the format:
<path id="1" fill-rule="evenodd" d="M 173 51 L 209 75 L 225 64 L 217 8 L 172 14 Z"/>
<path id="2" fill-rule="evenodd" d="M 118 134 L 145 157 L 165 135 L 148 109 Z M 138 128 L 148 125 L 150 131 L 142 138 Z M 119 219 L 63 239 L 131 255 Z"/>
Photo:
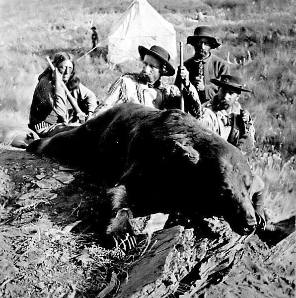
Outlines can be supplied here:
<path id="1" fill-rule="evenodd" d="M 88 114 L 93 112 L 96 96 L 92 91 L 79 83 L 71 92 L 77 100 L 80 109 Z M 30 126 L 35 126 L 43 121 L 48 124 L 68 122 L 68 114 L 72 106 L 62 86 L 55 86 L 51 74 L 46 74 L 39 79 L 35 88 L 30 108 Z"/>

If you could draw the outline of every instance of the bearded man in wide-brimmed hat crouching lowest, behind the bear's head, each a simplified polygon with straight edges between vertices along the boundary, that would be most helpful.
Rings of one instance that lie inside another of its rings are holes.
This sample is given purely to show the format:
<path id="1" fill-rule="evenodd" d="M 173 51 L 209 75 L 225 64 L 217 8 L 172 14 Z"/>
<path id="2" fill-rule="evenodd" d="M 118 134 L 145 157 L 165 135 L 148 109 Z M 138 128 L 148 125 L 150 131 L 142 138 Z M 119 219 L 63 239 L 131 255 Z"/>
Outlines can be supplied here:
<path id="1" fill-rule="evenodd" d="M 221 80 L 212 79 L 211 83 L 219 87 L 212 103 L 203 108 L 201 123 L 222 136 L 244 154 L 251 153 L 255 144 L 255 128 L 250 113 L 242 109 L 237 101 L 241 92 L 250 92 L 243 88 L 242 79 L 231 75 L 222 75 Z M 259 225 L 263 230 L 275 231 L 264 209 L 264 182 L 255 175 L 251 190 L 252 202 Z M 266 221 L 268 224 L 266 224 Z"/>

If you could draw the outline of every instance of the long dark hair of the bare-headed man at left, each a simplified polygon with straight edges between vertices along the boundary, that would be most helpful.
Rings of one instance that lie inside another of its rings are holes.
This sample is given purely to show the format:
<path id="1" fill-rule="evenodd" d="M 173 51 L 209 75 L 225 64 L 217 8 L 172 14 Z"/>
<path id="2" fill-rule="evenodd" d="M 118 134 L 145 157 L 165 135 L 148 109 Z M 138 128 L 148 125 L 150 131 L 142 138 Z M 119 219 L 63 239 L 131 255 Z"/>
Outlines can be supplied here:
<path id="1" fill-rule="evenodd" d="M 74 55 L 71 53 L 67 53 L 67 52 L 58 52 L 56 54 L 54 54 L 54 56 L 52 57 L 52 63 L 55 67 L 58 67 L 59 64 L 61 64 L 63 61 L 65 60 L 70 60 L 73 64 L 73 71 L 72 74 L 66 84 L 66 86 L 68 87 L 69 90 L 74 90 L 80 80 L 78 78 L 78 76 L 75 74 L 75 63 L 74 63 Z M 39 77 L 38 77 L 38 81 L 40 81 L 40 79 L 46 75 L 50 75 L 52 76 L 52 70 L 50 67 L 48 67 Z"/>

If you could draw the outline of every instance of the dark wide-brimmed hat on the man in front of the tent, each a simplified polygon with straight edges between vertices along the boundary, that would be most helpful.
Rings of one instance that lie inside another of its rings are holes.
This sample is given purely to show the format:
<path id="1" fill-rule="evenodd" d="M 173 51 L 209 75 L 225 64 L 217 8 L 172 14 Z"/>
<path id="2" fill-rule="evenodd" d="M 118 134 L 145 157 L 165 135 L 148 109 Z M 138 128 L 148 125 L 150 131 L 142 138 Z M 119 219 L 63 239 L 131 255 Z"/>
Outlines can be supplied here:
<path id="1" fill-rule="evenodd" d="M 175 74 L 175 69 L 169 62 L 170 55 L 164 48 L 160 46 L 151 46 L 150 49 L 147 49 L 144 46 L 139 46 L 139 54 L 142 59 L 144 59 L 145 55 L 151 55 L 161 62 L 165 68 L 165 71 L 162 74 L 163 76 L 170 77 Z"/>

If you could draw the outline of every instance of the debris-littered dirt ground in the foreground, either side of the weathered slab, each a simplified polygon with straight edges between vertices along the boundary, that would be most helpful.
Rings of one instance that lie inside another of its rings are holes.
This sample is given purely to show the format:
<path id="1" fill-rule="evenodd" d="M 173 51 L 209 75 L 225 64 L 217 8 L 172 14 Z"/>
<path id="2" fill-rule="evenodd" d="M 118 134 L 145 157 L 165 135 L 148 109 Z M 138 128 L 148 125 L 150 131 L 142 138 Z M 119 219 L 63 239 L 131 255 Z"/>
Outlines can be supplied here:
<path id="1" fill-rule="evenodd" d="M 100 246 L 94 233 L 101 193 L 81 172 L 0 147 L 0 297 L 100 297 L 112 273 L 128 278 L 135 256 L 118 261 L 120 252 Z M 295 233 L 272 248 L 253 236 L 206 297 L 295 297 L 295 268 Z"/>

